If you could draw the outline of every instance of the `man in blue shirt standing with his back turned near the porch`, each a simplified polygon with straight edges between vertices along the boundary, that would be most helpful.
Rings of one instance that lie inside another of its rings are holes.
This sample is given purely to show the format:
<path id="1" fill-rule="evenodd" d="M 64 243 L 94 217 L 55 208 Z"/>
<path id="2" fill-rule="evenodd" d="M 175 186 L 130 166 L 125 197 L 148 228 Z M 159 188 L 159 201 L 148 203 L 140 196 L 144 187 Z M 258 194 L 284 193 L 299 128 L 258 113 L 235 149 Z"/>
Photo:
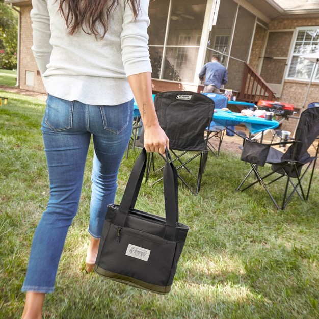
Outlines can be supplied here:
<path id="1" fill-rule="evenodd" d="M 219 61 L 219 57 L 212 57 L 211 62 L 206 63 L 198 74 L 201 81 L 205 77 L 203 93 L 219 93 L 221 85 L 227 83 L 227 69 Z"/>

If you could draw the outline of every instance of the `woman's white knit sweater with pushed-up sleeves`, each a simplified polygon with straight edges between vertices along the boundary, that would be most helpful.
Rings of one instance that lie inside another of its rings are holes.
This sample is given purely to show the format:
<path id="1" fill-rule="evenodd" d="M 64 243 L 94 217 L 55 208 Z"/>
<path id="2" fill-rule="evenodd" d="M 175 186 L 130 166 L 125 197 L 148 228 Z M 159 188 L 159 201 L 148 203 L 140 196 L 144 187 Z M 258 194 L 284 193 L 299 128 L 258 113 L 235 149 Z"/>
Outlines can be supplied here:
<path id="1" fill-rule="evenodd" d="M 47 92 L 91 105 L 132 99 L 127 76 L 151 72 L 148 4 L 149 0 L 141 0 L 134 20 L 127 0 L 119 0 L 107 34 L 96 39 L 83 30 L 67 34 L 59 0 L 32 0 L 32 51 Z"/>

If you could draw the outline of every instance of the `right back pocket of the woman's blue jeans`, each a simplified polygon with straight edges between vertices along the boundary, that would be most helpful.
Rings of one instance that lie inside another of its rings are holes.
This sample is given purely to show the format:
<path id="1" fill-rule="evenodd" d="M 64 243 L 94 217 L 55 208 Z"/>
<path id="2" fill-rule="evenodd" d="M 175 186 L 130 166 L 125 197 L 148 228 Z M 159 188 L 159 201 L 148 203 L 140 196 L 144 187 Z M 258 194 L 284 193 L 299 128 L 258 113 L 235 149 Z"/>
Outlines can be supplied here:
<path id="1" fill-rule="evenodd" d="M 104 129 L 119 134 L 129 123 L 132 116 L 133 102 L 109 106 L 100 105 Z"/>

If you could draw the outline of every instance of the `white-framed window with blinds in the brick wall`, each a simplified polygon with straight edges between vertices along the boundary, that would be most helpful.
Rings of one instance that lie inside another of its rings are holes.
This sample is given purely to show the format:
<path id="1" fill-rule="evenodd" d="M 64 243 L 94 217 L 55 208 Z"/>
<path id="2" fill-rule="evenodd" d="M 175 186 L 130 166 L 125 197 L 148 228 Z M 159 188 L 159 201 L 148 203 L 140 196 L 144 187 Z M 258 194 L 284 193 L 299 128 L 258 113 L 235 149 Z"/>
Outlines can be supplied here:
<path id="1" fill-rule="evenodd" d="M 319 27 L 299 28 L 290 58 L 287 78 L 310 81 L 314 71 L 314 81 L 319 81 L 319 71 L 315 63 L 301 58 L 301 55 L 316 52 L 319 49 Z"/>

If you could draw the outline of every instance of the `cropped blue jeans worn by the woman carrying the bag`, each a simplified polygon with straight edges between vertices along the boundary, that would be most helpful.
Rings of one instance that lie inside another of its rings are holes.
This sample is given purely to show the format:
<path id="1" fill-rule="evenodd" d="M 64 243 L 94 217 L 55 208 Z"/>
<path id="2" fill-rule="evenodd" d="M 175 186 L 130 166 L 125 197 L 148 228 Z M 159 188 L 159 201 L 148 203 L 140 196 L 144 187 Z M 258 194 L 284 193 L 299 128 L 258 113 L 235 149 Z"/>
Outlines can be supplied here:
<path id="1" fill-rule="evenodd" d="M 94 158 L 89 233 L 100 238 L 107 205 L 114 202 L 132 117 L 133 101 L 97 106 L 48 96 L 41 129 L 50 197 L 34 234 L 22 291 L 54 290 L 65 238 L 81 196 L 91 135 Z"/>

